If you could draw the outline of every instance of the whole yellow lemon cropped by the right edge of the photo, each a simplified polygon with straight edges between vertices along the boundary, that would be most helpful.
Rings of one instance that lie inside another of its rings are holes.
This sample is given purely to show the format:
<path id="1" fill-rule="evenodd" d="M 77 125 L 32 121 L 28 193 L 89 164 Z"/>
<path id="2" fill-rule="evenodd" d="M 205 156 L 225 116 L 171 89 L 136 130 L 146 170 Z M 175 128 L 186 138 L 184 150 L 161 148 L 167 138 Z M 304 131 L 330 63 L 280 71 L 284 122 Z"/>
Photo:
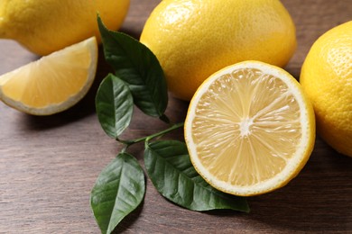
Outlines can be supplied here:
<path id="1" fill-rule="evenodd" d="M 320 137 L 352 157 L 352 21 L 314 42 L 300 82 L 313 103 Z"/>

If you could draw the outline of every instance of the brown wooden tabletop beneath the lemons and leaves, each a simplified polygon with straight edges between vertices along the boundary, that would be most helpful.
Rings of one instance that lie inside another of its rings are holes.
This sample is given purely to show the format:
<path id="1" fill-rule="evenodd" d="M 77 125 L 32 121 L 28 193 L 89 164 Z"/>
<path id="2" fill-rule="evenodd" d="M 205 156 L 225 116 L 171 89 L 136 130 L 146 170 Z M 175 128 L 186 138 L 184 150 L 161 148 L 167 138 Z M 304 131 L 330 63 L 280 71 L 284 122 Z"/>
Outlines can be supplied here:
<path id="1" fill-rule="evenodd" d="M 159 0 L 132 0 L 122 31 L 138 38 Z M 320 34 L 352 20 L 350 0 L 284 0 L 297 26 L 298 49 L 286 69 L 301 64 Z M 0 40 L 0 74 L 37 59 L 14 41 Z M 94 95 L 107 65 L 100 58 L 97 82 L 67 112 L 34 117 L 0 103 L 0 233 L 99 233 L 89 193 L 97 175 L 120 147 L 101 130 Z M 182 121 L 188 103 L 172 99 L 168 115 Z M 162 130 L 159 121 L 136 111 L 125 133 L 136 138 Z M 182 132 L 170 135 L 182 139 Z M 351 146 L 352 147 L 352 146 Z M 143 145 L 131 148 L 143 158 Z M 310 161 L 290 184 L 248 199 L 249 214 L 194 212 L 165 201 L 147 180 L 143 205 L 117 229 L 125 233 L 352 233 L 352 158 L 319 138 Z"/>

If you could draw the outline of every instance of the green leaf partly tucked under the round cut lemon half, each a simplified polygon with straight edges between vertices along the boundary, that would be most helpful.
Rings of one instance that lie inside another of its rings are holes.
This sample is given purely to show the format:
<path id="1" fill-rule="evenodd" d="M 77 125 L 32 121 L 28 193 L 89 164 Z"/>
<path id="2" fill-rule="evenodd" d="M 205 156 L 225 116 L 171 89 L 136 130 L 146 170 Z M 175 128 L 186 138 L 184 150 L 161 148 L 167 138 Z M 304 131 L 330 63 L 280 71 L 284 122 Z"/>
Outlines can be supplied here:
<path id="1" fill-rule="evenodd" d="M 147 144 L 144 165 L 162 196 L 193 211 L 231 209 L 249 211 L 244 197 L 222 193 L 194 169 L 186 145 L 177 140 Z"/>

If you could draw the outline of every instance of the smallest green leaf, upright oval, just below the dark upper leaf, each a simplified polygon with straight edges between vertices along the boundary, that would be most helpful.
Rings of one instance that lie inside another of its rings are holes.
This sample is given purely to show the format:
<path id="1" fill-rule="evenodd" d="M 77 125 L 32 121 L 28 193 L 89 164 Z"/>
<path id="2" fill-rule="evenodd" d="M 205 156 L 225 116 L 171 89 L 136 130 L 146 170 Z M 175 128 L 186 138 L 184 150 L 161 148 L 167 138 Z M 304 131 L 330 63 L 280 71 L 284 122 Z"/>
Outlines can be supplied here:
<path id="1" fill-rule="evenodd" d="M 133 97 L 125 82 L 107 75 L 97 89 L 96 109 L 101 127 L 116 139 L 130 124 L 134 110 Z"/>

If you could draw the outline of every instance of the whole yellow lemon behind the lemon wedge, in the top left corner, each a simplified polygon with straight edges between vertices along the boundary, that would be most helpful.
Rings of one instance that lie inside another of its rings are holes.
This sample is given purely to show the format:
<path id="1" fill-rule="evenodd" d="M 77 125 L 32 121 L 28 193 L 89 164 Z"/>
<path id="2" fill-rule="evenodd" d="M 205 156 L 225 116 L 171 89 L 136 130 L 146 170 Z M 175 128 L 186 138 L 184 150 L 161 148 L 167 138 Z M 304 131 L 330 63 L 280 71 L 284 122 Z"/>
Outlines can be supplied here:
<path id="1" fill-rule="evenodd" d="M 95 36 L 97 13 L 111 30 L 124 22 L 130 0 L 2 0 L 0 38 L 17 40 L 39 55 L 48 55 Z"/>

